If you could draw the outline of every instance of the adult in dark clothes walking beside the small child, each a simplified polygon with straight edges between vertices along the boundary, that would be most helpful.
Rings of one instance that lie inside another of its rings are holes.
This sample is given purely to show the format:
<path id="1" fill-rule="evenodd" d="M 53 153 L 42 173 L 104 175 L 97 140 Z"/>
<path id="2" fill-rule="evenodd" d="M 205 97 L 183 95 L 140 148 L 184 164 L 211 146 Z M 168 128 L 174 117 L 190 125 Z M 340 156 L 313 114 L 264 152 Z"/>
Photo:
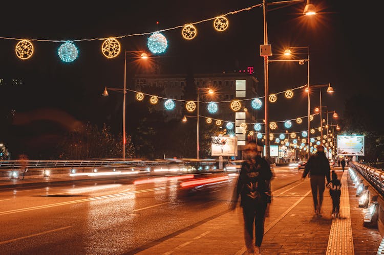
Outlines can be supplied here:
<path id="1" fill-rule="evenodd" d="M 324 177 L 327 178 L 328 184 L 331 181 L 330 171 L 331 168 L 329 167 L 329 161 L 325 156 L 324 147 L 319 145 L 317 146 L 316 154 L 309 157 L 303 172 L 303 178 L 305 178 L 309 173 L 309 177 L 311 179 L 313 205 L 315 208 L 315 214 L 318 217 L 322 216 L 322 204 L 325 190 Z"/>

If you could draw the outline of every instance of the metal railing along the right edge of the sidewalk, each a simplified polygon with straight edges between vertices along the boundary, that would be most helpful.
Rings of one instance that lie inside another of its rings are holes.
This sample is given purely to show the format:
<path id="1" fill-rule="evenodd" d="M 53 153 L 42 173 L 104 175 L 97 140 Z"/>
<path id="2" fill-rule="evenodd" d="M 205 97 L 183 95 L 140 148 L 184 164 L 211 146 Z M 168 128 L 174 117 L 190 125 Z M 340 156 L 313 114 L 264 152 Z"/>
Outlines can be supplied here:
<path id="1" fill-rule="evenodd" d="M 384 196 L 384 171 L 357 162 L 350 162 L 349 166 L 359 172 L 381 196 Z"/>

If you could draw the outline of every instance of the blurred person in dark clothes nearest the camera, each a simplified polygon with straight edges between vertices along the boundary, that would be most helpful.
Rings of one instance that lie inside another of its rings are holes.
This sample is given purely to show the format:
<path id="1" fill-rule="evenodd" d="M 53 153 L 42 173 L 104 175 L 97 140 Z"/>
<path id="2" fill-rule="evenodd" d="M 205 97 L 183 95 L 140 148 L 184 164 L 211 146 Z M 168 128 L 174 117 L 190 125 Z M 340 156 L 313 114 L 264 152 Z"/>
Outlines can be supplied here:
<path id="1" fill-rule="evenodd" d="M 234 189 L 232 205 L 241 197 L 243 207 L 245 245 L 249 254 L 259 254 L 264 235 L 266 210 L 271 202 L 271 167 L 261 157 L 262 147 L 254 142 L 246 145 L 243 151 L 244 163 L 241 166 L 237 186 Z M 233 209 L 234 207 L 232 207 Z M 253 227 L 254 226 L 254 227 Z M 252 245 L 253 231 L 255 244 Z"/>

